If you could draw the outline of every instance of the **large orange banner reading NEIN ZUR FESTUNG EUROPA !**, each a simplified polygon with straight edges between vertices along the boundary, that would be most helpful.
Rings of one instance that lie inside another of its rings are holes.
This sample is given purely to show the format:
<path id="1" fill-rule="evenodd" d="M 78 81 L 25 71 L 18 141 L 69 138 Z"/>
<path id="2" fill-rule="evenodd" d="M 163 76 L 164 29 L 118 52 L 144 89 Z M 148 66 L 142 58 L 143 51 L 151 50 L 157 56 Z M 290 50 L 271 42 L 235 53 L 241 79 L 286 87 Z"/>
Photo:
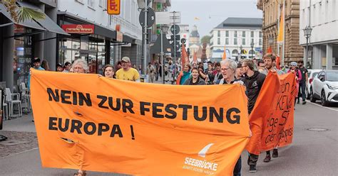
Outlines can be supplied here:
<path id="1" fill-rule="evenodd" d="M 175 86 L 31 70 L 31 101 L 43 167 L 232 175 L 249 140 L 239 84 Z"/>

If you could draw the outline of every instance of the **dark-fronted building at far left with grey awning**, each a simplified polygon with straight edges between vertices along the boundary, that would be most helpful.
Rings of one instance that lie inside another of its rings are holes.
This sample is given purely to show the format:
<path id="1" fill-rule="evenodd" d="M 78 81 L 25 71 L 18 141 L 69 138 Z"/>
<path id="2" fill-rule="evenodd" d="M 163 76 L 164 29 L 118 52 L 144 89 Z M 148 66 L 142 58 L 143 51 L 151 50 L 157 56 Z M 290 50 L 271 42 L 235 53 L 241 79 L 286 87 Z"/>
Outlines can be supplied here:
<path id="1" fill-rule="evenodd" d="M 11 91 L 19 91 L 19 84 L 28 82 L 34 57 L 47 60 L 55 69 L 56 35 L 68 35 L 56 24 L 56 1 L 17 1 L 16 5 L 39 10 L 46 17 L 16 23 L 0 3 L 0 82 L 6 82 Z"/>

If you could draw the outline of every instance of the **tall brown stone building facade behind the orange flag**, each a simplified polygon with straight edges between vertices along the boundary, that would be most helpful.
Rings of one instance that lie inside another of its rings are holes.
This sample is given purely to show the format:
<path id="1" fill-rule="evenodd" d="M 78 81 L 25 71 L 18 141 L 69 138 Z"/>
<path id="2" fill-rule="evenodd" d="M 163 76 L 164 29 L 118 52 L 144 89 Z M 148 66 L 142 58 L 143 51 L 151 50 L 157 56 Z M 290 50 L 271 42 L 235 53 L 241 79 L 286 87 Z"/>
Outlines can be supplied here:
<path id="1" fill-rule="evenodd" d="M 285 63 L 302 60 L 303 48 L 299 45 L 299 0 L 258 0 L 257 8 L 263 11 L 263 53 L 269 47 L 282 57 L 282 45 L 278 45 L 278 24 L 285 1 Z"/>

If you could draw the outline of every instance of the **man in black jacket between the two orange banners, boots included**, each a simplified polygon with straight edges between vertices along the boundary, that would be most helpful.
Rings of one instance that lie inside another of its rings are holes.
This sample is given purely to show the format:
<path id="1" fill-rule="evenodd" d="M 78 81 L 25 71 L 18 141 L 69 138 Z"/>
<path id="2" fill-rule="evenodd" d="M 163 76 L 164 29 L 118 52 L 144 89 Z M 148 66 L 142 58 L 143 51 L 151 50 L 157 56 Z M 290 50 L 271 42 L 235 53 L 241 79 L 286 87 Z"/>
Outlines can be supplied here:
<path id="1" fill-rule="evenodd" d="M 247 88 L 247 111 L 251 114 L 252 109 L 255 106 L 260 89 L 262 89 L 263 82 L 265 81 L 265 75 L 255 70 L 255 63 L 253 60 L 245 59 L 242 62 L 242 71 L 245 74 L 243 82 Z M 256 165 L 258 155 L 249 153 L 248 164 L 250 165 L 249 172 L 257 172 Z"/>

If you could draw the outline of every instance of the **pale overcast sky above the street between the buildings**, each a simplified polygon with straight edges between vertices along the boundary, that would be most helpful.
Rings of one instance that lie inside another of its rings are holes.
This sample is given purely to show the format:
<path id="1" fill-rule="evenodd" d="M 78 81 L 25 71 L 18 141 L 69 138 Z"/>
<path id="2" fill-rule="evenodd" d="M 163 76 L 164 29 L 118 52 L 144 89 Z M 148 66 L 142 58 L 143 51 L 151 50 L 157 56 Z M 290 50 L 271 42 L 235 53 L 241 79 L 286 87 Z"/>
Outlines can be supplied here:
<path id="1" fill-rule="evenodd" d="M 228 17 L 262 18 L 257 0 L 171 0 L 170 11 L 181 12 L 181 23 L 198 26 L 200 38 Z M 195 20 L 195 17 L 200 20 Z"/>

